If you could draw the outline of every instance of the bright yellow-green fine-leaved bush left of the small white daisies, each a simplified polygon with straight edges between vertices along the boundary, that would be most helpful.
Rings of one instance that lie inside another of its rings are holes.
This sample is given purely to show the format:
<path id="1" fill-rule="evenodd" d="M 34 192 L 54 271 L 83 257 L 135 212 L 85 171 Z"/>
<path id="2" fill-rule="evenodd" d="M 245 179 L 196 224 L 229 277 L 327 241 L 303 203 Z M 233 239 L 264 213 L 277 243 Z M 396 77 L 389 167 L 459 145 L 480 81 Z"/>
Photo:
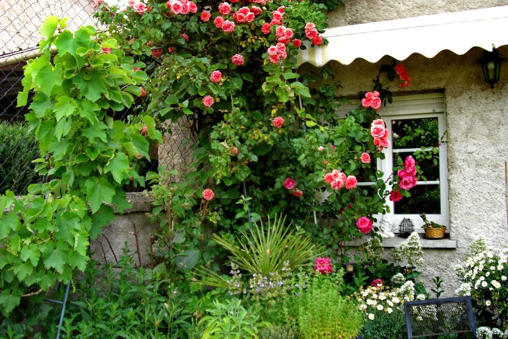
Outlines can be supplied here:
<path id="1" fill-rule="evenodd" d="M 297 289 L 288 295 L 285 312 L 294 319 L 302 337 L 308 339 L 353 339 L 358 336 L 362 316 L 355 303 L 341 295 L 342 269 L 333 274 L 301 273 Z"/>

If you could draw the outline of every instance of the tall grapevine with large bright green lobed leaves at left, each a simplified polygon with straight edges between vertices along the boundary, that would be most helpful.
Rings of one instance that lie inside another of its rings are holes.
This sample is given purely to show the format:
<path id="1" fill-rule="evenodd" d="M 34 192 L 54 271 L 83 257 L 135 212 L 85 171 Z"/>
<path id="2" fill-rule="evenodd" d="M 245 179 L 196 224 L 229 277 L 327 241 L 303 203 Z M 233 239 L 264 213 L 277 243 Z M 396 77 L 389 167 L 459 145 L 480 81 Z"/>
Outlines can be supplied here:
<path id="1" fill-rule="evenodd" d="M 28 131 L 35 134 L 40 154 L 47 154 L 34 161 L 36 171 L 55 179 L 30 185 L 22 199 L 11 191 L 0 196 L 0 210 L 10 210 L 0 214 L 4 315 L 21 295 L 46 291 L 56 281 L 72 279 L 74 269 L 84 270 L 89 239 L 114 218 L 114 209 L 121 213 L 131 207 L 123 184 L 133 178 L 144 185 L 137 172 L 138 154 L 148 157 L 142 125 L 126 125 L 110 114 L 131 107 L 128 87 L 146 75 L 133 72 L 134 59 L 121 50 L 102 53 L 101 42 L 116 47 L 115 40 L 103 42 L 104 35 L 91 26 L 74 35 L 65 26 L 65 19 L 56 17 L 44 23 L 43 54 L 27 62 L 18 95 L 18 106 L 24 106 L 28 93 L 35 94 L 26 115 Z M 51 45 L 61 47 L 54 57 Z M 160 137 L 160 132 L 153 135 Z"/>

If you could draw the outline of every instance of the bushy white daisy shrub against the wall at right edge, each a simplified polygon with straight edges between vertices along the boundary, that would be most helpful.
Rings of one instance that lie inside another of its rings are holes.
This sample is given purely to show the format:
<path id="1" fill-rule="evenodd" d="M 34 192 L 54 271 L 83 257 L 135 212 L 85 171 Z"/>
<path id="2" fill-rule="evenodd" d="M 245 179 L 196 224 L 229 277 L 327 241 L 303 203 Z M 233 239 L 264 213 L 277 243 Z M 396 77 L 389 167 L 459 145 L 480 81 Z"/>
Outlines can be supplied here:
<path id="1" fill-rule="evenodd" d="M 484 244 L 475 241 L 472 246 Z M 502 328 L 508 322 L 508 248 L 483 247 L 483 251 L 468 257 L 463 265 L 456 267 L 464 282 L 457 294 L 471 295 L 475 307 L 497 318 Z"/>

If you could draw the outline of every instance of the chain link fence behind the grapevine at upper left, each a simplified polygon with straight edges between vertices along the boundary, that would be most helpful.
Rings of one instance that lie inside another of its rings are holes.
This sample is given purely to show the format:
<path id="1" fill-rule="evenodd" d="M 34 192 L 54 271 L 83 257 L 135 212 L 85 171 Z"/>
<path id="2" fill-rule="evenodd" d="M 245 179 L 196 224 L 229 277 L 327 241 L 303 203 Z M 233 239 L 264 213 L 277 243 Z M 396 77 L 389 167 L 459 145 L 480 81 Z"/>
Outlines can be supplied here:
<path id="1" fill-rule="evenodd" d="M 33 134 L 24 123 L 28 106 L 17 106 L 17 94 L 26 60 L 39 52 L 40 27 L 45 18 L 67 17 L 68 29 L 82 25 L 100 27 L 93 16 L 91 0 L 1 0 L 0 1 L 0 194 L 12 190 L 26 193 L 28 185 L 42 181 L 34 172 L 33 159 L 41 157 Z M 121 118 L 126 119 L 129 112 Z M 182 120 L 165 133 L 164 143 L 153 147 L 150 161 L 145 161 L 142 174 L 156 171 L 160 164 L 177 169 L 180 178 L 188 172 L 192 156 L 186 146 L 190 137 L 189 122 Z M 139 190 L 126 187 L 128 191 Z"/>

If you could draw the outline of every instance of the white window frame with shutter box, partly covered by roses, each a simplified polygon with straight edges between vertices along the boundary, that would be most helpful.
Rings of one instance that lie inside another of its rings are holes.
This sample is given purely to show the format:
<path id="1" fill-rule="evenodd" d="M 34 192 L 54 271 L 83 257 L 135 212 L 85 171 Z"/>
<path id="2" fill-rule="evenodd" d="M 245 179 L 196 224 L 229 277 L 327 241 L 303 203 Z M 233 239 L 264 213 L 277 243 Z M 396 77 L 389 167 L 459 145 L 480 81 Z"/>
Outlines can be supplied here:
<path id="1" fill-rule="evenodd" d="M 358 101 L 358 100 L 355 100 Z M 356 109 L 358 103 L 353 102 L 352 105 L 343 105 L 337 111 L 339 116 L 345 116 L 347 112 Z M 393 103 L 387 104 L 386 107 L 381 107 L 378 111 L 379 116 L 385 121 L 390 135 L 390 147 L 385 149 L 384 160 L 377 161 L 377 169 L 384 173 L 383 180 L 387 181 L 392 171 L 393 163 L 393 140 L 392 140 L 392 120 L 400 119 L 418 119 L 418 118 L 434 118 L 438 119 L 439 135 L 443 135 L 446 131 L 446 109 L 444 105 L 444 93 L 427 93 L 416 95 L 405 95 L 393 97 Z M 415 149 L 400 149 L 399 152 L 410 152 Z M 418 181 L 419 185 L 439 184 L 440 188 L 440 214 L 427 214 L 430 221 L 447 226 L 447 232 L 450 231 L 450 214 L 449 214 L 449 201 L 448 201 L 448 153 L 447 144 L 439 146 L 439 180 L 438 181 Z M 424 174 L 425 175 L 425 174 Z M 359 186 L 368 186 L 372 183 L 358 183 Z M 387 183 L 387 189 L 391 190 L 391 185 Z M 410 192 L 410 190 L 409 190 Z M 387 220 L 393 225 L 393 231 L 398 233 L 399 224 L 403 218 L 409 218 L 415 224 L 415 230 L 419 233 L 424 233 L 422 225 L 424 224 L 419 214 L 395 214 L 394 203 L 390 201 L 389 197 L 386 198 L 386 205 L 390 208 L 390 213 L 376 214 L 375 217 L 379 220 Z"/>

